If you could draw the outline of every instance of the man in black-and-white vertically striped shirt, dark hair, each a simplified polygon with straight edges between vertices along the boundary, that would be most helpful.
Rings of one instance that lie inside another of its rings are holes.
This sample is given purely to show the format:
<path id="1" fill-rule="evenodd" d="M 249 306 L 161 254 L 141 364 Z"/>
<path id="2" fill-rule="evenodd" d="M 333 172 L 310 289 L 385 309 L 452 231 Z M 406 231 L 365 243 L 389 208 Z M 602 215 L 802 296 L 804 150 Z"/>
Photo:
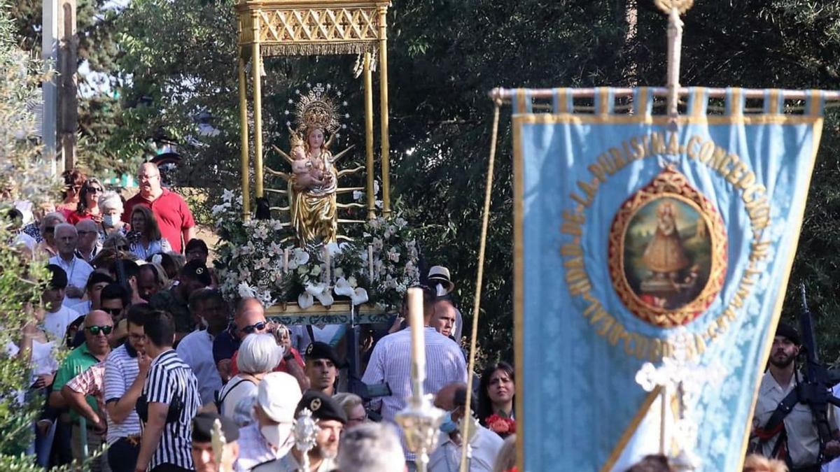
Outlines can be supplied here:
<path id="1" fill-rule="evenodd" d="M 172 344 L 175 324 L 154 312 L 145 325 L 146 354 L 154 360 L 137 401 L 143 439 L 135 472 L 186 472 L 193 469 L 191 425 L 201 406 L 198 381 Z"/>

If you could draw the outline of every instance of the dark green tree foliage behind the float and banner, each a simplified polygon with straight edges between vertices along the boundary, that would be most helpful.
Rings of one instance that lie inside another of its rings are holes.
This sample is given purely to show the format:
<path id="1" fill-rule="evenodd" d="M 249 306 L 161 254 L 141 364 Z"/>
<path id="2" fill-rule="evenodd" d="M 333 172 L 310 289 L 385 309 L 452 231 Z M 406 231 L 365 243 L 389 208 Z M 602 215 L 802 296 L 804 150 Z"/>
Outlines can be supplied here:
<path id="1" fill-rule="evenodd" d="M 232 0 L 135 0 L 116 20 L 121 76 L 113 149 L 136 157 L 155 140 L 186 157 L 181 183 L 239 181 L 239 116 Z M 638 8 L 635 34 L 628 8 Z M 394 197 L 423 228 L 429 264 L 458 282 L 469 315 L 490 147 L 493 87 L 663 85 L 667 18 L 648 0 L 401 0 L 389 12 L 391 162 Z M 165 25 L 165 31 L 164 31 Z M 685 15 L 681 81 L 710 87 L 840 88 L 840 4 L 832 0 L 696 2 Z M 329 82 L 346 92 L 363 160 L 361 81 L 352 56 L 265 60 L 265 152 L 286 147 L 284 110 L 296 87 Z M 250 90 L 249 90 L 250 94 Z M 378 103 L 375 103 L 378 110 Z M 487 242 L 479 339 L 512 357 L 512 161 L 502 110 Z M 202 134 L 204 120 L 218 131 Z M 828 113 L 791 282 L 806 281 L 824 354 L 837 356 L 840 314 L 840 117 Z M 99 123 L 99 126 L 107 124 Z M 378 130 L 376 131 L 378 136 Z M 253 152 L 253 146 L 252 146 Z M 792 293 L 792 292 L 791 292 Z M 790 293 L 789 293 L 790 295 Z M 796 311 L 788 296 L 785 312 Z M 548 315 L 547 315 L 548 316 Z M 554 315 L 556 316 L 556 315 Z M 470 323 L 470 317 L 466 318 Z"/>

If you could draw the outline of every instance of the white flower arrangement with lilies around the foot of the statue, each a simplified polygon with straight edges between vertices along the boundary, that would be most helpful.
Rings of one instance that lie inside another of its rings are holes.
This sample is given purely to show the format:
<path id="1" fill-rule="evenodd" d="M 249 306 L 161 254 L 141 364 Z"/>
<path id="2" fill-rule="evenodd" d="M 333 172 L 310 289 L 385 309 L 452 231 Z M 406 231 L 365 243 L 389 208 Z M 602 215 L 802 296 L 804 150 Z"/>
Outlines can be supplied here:
<path id="1" fill-rule="evenodd" d="M 339 296 L 386 310 L 398 307 L 419 281 L 417 242 L 399 216 L 365 223 L 354 243 L 298 248 L 278 220 L 241 221 L 242 197 L 232 191 L 224 191 L 212 212 L 221 237 L 219 288 L 228 298 L 254 296 L 266 306 L 297 302 L 307 308 L 315 302 L 329 307 Z"/>

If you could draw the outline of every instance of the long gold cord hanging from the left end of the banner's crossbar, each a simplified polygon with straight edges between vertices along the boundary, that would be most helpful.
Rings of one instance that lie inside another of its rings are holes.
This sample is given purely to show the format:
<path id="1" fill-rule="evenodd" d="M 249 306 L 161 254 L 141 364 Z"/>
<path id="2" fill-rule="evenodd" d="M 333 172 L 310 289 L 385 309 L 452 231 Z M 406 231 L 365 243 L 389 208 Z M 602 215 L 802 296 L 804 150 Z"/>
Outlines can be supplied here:
<path id="1" fill-rule="evenodd" d="M 470 421 L 472 415 L 470 405 L 472 402 L 472 380 L 475 370 L 475 340 L 478 334 L 478 313 L 481 304 L 481 283 L 484 279 L 484 253 L 487 245 L 487 223 L 490 220 L 490 198 L 493 191 L 493 167 L 496 163 L 496 140 L 499 135 L 499 108 L 501 101 L 495 101 L 493 109 L 493 131 L 490 141 L 490 164 L 487 165 L 487 184 L 484 191 L 484 214 L 481 216 L 481 239 L 478 246 L 478 274 L 475 275 L 475 296 L 473 297 L 473 323 L 472 335 L 470 336 L 470 364 L 467 368 L 467 398 L 465 402 L 465 414 L 461 420 L 461 440 L 468 441 L 470 438 Z M 467 472 L 467 449 L 469 444 L 461 446 L 460 472 Z"/>

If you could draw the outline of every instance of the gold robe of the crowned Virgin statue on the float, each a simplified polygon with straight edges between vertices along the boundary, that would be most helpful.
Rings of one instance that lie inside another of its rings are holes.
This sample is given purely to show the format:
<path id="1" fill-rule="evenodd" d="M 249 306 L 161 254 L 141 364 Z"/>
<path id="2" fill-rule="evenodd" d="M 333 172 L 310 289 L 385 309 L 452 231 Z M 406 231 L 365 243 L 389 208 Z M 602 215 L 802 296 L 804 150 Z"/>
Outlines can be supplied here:
<path id="1" fill-rule="evenodd" d="M 298 244 L 302 246 L 319 241 L 324 244 L 336 241 L 339 220 L 335 189 L 339 176 L 333 167 L 332 158 L 333 155 L 326 149 L 318 156 L 318 160 L 323 160 L 324 173 L 333 176 L 323 186 L 296 189 L 297 178 L 292 174 L 289 179 L 291 226 L 295 228 Z"/>

